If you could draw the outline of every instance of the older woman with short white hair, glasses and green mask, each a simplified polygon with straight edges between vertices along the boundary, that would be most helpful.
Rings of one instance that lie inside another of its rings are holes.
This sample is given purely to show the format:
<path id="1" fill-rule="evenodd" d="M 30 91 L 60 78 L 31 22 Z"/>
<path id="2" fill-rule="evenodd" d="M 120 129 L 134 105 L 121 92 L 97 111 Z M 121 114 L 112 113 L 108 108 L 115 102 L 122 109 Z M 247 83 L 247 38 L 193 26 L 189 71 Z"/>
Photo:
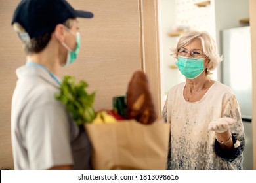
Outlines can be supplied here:
<path id="1" fill-rule="evenodd" d="M 243 169 L 244 127 L 232 90 L 210 75 L 222 61 L 205 31 L 184 33 L 173 49 L 186 82 L 163 107 L 171 123 L 167 169 Z"/>

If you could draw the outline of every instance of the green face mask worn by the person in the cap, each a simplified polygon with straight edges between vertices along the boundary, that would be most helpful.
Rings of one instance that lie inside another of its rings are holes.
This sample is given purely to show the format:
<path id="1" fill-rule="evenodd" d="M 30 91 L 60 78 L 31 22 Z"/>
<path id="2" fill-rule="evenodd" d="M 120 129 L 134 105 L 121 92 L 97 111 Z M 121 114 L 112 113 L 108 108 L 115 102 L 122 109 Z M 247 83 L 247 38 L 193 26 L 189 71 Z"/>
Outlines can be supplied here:
<path id="1" fill-rule="evenodd" d="M 63 67 L 66 66 L 66 65 L 69 65 L 70 63 L 73 63 L 75 61 L 75 59 L 77 58 L 77 56 L 78 56 L 80 46 L 81 46 L 80 34 L 77 32 L 75 36 L 76 36 L 75 50 L 71 50 L 68 47 L 68 45 L 66 45 L 64 42 L 62 42 L 62 45 L 68 50 L 67 60 L 66 60 L 66 63 L 64 65 L 62 65 Z"/>

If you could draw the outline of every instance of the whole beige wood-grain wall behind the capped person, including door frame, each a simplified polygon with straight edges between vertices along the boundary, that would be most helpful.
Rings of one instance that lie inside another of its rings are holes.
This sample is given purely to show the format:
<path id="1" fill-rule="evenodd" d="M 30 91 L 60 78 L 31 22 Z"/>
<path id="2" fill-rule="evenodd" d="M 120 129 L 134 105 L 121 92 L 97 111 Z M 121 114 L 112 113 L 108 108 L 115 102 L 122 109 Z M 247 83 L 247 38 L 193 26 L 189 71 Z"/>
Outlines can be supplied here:
<path id="1" fill-rule="evenodd" d="M 18 2 L 20 0 L 0 1 L 0 169 L 13 169 L 11 97 L 16 84 L 15 69 L 26 60 L 20 40 L 11 27 L 12 13 Z M 74 75 L 77 80 L 87 81 L 89 91 L 96 91 L 95 109 L 98 110 L 112 108 L 112 97 L 125 95 L 133 72 L 144 69 L 160 113 L 157 0 L 69 2 L 74 8 L 92 11 L 95 16 L 79 19 L 81 51 L 75 63 L 62 69 L 60 77 Z M 143 46 L 142 42 L 146 44 Z"/>

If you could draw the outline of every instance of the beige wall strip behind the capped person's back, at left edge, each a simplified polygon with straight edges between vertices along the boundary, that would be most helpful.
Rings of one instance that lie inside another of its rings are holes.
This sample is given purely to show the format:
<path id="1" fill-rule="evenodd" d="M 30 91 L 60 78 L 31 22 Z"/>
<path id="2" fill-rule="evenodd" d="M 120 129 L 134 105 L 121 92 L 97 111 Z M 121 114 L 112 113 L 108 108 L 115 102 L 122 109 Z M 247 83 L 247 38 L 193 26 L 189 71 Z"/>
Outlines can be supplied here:
<path id="1" fill-rule="evenodd" d="M 25 60 L 16 34 L 11 28 L 11 17 L 16 1 L 0 1 L 0 168 L 12 168 L 10 118 L 11 97 L 16 84 L 16 67 Z"/>

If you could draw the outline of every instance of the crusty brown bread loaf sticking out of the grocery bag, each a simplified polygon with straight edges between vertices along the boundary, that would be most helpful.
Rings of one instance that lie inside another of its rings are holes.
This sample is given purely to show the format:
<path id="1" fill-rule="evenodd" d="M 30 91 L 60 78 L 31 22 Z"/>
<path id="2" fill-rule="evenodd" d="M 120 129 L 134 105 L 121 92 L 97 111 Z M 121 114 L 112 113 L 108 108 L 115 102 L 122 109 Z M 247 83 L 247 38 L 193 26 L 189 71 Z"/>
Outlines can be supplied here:
<path id="1" fill-rule="evenodd" d="M 157 118 L 148 78 L 143 71 L 136 71 L 127 90 L 127 116 L 142 124 L 152 124 Z"/>

